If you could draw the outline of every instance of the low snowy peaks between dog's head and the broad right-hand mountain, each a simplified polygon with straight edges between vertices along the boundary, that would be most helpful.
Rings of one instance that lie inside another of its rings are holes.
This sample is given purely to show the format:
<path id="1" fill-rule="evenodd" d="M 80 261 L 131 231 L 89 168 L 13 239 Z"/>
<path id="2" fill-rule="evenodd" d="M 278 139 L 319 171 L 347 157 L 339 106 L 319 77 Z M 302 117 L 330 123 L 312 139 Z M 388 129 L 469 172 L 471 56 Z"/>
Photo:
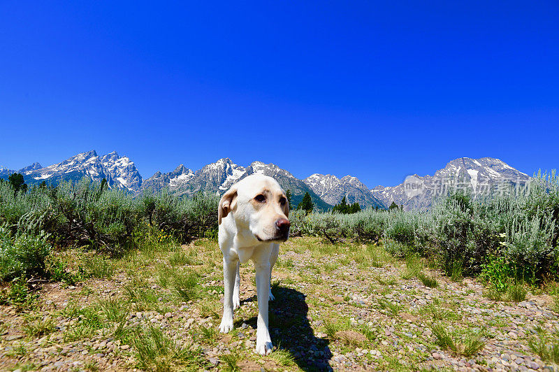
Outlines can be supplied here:
<path id="1" fill-rule="evenodd" d="M 359 203 L 361 208 L 368 206 L 385 208 L 370 189 L 356 177 L 337 178 L 331 174 L 314 173 L 312 176 L 305 178 L 304 181 L 326 203 L 340 203 L 345 196 L 347 203 Z"/>

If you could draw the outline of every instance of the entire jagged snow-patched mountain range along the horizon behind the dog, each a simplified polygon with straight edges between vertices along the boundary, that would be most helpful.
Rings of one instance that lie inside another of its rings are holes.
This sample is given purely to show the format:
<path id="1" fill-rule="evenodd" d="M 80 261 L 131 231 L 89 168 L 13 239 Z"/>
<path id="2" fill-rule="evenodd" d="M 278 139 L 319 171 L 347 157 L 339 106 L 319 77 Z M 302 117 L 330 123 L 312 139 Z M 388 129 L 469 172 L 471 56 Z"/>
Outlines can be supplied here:
<path id="1" fill-rule="evenodd" d="M 0 166 L 0 178 L 8 178 L 14 172 Z M 337 178 L 315 173 L 305 180 L 299 180 L 275 164 L 252 162 L 244 167 L 228 158 L 219 159 L 198 171 L 180 164 L 174 171 L 157 172 L 143 180 L 128 157 L 121 157 L 117 152 L 99 156 L 94 150 L 82 152 L 51 166 L 43 167 L 34 163 L 17 172 L 24 175 L 28 184 L 43 181 L 57 184 L 61 180 L 80 180 L 87 176 L 98 182 L 105 178 L 109 187 L 126 189 L 133 194 L 168 189 L 173 194 L 185 196 L 200 191 L 223 194 L 238 180 L 253 173 L 262 173 L 278 180 L 284 189 L 291 190 L 293 205 L 297 205 L 305 192 L 309 192 L 315 205 L 322 210 L 340 203 L 344 196 L 347 203 L 359 203 L 362 208 L 386 208 L 395 202 L 404 206 L 405 210 L 428 209 L 437 196 L 446 194 L 451 188 L 460 187 L 472 192 L 474 196 L 483 196 L 498 191 L 499 187 L 523 185 L 529 179 L 528 175 L 499 159 L 463 157 L 452 160 L 444 169 L 436 171 L 434 176 L 408 176 L 400 185 L 378 186 L 374 189 L 368 189 L 358 178 L 352 176 Z"/>

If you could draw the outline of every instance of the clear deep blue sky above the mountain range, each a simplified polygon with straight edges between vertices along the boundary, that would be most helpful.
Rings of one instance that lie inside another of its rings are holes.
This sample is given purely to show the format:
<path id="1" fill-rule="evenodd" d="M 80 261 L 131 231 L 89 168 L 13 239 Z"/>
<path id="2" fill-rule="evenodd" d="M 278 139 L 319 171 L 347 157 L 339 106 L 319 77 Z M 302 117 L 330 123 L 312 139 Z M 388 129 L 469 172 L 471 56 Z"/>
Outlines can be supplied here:
<path id="1" fill-rule="evenodd" d="M 117 4 L 118 3 L 118 4 Z M 558 168 L 557 1 L 1 1 L 0 164 Z"/>

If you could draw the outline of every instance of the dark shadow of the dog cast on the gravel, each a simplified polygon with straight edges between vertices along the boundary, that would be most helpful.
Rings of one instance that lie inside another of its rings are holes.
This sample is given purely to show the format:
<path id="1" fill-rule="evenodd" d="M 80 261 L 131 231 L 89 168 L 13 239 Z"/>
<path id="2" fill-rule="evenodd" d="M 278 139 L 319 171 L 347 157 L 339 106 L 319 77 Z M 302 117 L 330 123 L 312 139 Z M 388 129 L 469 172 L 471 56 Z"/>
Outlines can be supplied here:
<path id="1" fill-rule="evenodd" d="M 273 285 L 272 294 L 275 300 L 269 302 L 268 326 L 272 343 L 289 352 L 303 371 L 332 371 L 329 341 L 314 336 L 307 319 L 309 306 L 305 302 L 305 294 L 279 285 Z M 241 306 L 252 301 L 256 301 L 256 296 L 240 301 Z M 240 327 L 242 323 L 256 329 L 256 317 L 237 320 L 235 327 Z"/>

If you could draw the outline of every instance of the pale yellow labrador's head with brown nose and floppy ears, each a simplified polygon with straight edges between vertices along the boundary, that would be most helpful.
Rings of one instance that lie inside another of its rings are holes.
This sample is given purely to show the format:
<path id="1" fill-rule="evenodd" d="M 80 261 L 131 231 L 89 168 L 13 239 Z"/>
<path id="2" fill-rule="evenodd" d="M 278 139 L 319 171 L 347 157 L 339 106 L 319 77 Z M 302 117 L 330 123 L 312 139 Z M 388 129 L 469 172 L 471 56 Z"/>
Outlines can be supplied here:
<path id="1" fill-rule="evenodd" d="M 258 241 L 286 241 L 289 237 L 289 202 L 271 177 L 253 174 L 231 186 L 219 201 L 219 224 L 229 213 L 238 229 L 247 229 Z"/>

